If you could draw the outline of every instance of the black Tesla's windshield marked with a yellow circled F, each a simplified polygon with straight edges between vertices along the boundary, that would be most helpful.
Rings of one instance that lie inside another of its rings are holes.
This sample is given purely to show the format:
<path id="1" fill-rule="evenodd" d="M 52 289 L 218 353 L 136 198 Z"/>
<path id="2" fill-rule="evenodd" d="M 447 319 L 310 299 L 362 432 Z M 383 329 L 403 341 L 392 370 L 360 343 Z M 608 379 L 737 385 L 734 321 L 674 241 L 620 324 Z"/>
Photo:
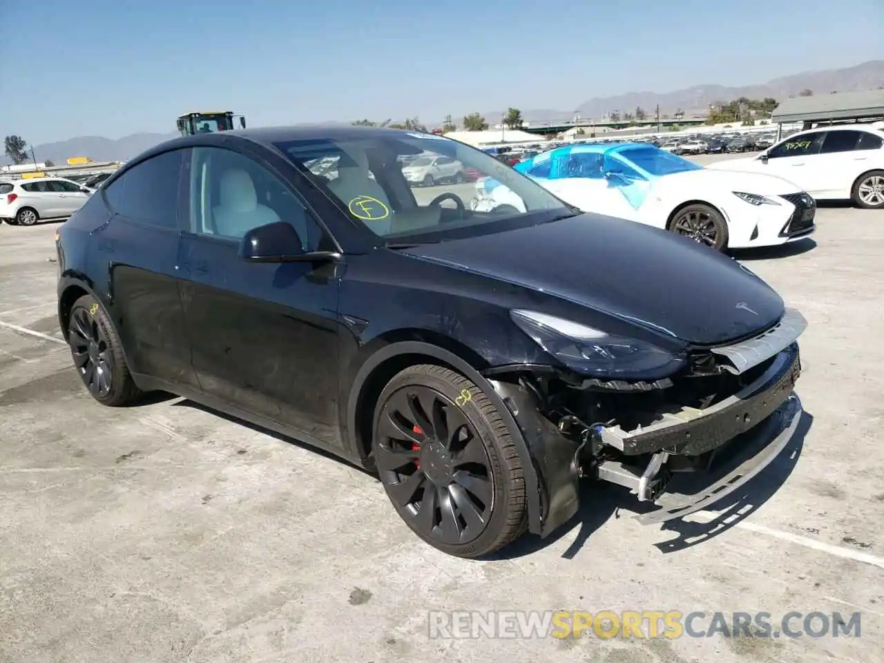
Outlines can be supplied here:
<path id="1" fill-rule="evenodd" d="M 576 213 L 507 164 L 459 141 L 393 130 L 359 133 L 276 147 L 385 243 L 502 232 Z M 403 169 L 403 163 L 421 168 Z"/>

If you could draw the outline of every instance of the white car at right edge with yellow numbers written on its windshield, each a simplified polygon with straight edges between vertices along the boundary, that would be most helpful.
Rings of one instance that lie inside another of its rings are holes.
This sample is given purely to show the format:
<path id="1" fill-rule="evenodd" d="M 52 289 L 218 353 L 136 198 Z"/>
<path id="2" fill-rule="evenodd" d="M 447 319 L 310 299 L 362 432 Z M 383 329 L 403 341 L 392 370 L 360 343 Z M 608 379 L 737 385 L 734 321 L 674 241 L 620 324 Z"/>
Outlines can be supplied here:
<path id="1" fill-rule="evenodd" d="M 872 125 L 793 133 L 758 156 L 711 168 L 778 175 L 817 200 L 851 200 L 867 210 L 884 210 L 884 131 Z"/>

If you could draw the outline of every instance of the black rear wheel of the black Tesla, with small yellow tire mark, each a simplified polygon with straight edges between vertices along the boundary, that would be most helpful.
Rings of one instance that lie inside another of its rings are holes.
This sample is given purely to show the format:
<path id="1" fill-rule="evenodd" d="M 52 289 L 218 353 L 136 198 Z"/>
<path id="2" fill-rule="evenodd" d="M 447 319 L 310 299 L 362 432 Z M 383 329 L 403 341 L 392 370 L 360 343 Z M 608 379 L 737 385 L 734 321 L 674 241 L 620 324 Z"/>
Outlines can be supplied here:
<path id="1" fill-rule="evenodd" d="M 73 365 L 92 397 L 103 405 L 131 404 L 139 395 L 117 330 L 91 294 L 73 302 L 68 316 Z"/>

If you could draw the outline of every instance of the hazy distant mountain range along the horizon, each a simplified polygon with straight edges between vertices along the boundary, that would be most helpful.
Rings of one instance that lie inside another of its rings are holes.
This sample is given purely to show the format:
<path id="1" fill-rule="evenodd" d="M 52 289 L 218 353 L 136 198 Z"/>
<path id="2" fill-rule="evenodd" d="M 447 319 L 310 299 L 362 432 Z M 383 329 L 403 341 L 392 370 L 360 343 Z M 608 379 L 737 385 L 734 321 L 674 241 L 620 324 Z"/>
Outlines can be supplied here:
<path id="1" fill-rule="evenodd" d="M 871 60 L 846 69 L 796 73 L 743 88 L 708 84 L 664 94 L 629 92 L 625 95 L 597 97 L 581 103 L 576 110 L 584 119 L 602 118 L 606 113 L 613 111 L 631 113 L 636 110 L 636 106 L 641 106 L 650 115 L 659 103 L 660 113 L 664 115 L 672 115 L 678 109 L 684 110 L 689 115 L 705 114 L 710 103 L 728 102 L 741 96 L 750 99 L 770 96 L 782 101 L 804 89 L 812 90 L 815 95 L 827 95 L 833 91 L 852 92 L 881 86 L 884 86 L 884 60 Z M 505 112 L 505 110 L 493 110 L 484 112 L 483 116 L 485 121 L 493 126 L 500 122 Z M 563 121 L 573 119 L 574 115 L 575 110 L 522 109 L 522 118 L 527 122 Z M 455 117 L 453 120 L 460 125 L 463 118 Z M 347 125 L 348 122 L 329 120 L 320 124 L 339 126 Z M 442 121 L 439 120 L 429 126 L 442 126 Z M 116 141 L 100 136 L 81 136 L 68 141 L 37 145 L 34 154 L 37 161 L 51 160 L 59 165 L 64 164 L 71 156 L 88 156 L 93 161 L 124 161 L 176 135 L 178 134 L 133 133 Z M 5 155 L 0 155 L 0 164 L 8 163 L 9 160 Z"/>

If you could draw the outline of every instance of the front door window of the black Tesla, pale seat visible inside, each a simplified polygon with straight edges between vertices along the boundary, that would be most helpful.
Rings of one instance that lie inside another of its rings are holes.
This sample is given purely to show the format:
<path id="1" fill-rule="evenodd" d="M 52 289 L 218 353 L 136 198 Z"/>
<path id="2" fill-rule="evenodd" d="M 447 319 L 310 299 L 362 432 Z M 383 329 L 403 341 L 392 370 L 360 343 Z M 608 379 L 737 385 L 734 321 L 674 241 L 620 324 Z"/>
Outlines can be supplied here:
<path id="1" fill-rule="evenodd" d="M 194 148 L 191 167 L 191 230 L 240 239 L 252 228 L 286 221 L 313 251 L 324 234 L 292 187 L 248 156 L 221 148 Z"/>

